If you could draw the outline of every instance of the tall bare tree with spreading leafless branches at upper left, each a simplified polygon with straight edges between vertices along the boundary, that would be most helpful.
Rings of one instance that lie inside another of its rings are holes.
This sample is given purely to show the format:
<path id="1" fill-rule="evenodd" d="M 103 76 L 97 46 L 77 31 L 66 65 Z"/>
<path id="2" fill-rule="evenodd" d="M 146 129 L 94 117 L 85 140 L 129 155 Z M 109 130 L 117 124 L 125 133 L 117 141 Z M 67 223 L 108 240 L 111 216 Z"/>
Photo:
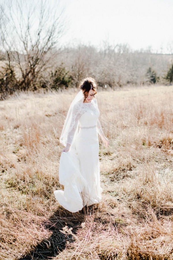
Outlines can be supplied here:
<path id="1" fill-rule="evenodd" d="M 37 89 L 65 29 L 58 1 L 6 0 L 0 5 L 1 50 L 18 89 Z"/>

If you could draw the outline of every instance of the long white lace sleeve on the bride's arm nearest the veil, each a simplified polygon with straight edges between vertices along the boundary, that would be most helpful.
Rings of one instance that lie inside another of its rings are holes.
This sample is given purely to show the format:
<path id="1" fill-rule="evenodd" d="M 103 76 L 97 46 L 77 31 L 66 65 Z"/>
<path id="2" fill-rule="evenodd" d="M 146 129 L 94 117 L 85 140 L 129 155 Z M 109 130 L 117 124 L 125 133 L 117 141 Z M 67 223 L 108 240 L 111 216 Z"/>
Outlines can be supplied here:
<path id="1" fill-rule="evenodd" d="M 76 132 L 77 126 L 78 126 L 78 120 L 80 118 L 80 109 L 78 104 L 76 104 L 72 111 L 72 119 L 69 126 L 69 131 L 67 135 L 67 144 L 71 144 L 74 138 L 74 134 Z"/>

